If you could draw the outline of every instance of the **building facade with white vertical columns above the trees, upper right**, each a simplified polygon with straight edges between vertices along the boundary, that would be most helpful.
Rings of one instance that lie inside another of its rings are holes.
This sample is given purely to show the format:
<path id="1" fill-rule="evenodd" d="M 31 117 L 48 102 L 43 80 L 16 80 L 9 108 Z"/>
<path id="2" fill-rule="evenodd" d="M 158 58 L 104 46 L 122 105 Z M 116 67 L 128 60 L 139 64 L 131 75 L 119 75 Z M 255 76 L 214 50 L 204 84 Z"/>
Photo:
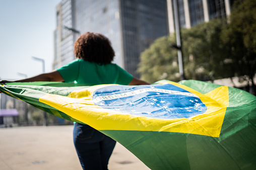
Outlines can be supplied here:
<path id="1" fill-rule="evenodd" d="M 174 33 L 173 1 L 167 0 L 169 32 Z M 175 0 L 178 4 L 180 28 L 191 28 L 202 22 L 230 15 L 234 0 Z"/>

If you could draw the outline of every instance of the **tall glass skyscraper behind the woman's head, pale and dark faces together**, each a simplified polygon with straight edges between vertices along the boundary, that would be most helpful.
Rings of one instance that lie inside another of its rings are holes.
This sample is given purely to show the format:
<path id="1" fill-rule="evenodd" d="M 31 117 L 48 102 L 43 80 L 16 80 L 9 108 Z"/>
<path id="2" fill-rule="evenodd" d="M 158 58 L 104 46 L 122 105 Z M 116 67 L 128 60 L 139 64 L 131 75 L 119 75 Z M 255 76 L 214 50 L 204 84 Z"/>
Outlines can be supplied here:
<path id="1" fill-rule="evenodd" d="M 75 58 L 73 44 L 80 33 L 97 32 L 110 39 L 114 63 L 138 77 L 141 52 L 168 35 L 166 0 L 62 0 L 56 25 L 54 69 Z"/>

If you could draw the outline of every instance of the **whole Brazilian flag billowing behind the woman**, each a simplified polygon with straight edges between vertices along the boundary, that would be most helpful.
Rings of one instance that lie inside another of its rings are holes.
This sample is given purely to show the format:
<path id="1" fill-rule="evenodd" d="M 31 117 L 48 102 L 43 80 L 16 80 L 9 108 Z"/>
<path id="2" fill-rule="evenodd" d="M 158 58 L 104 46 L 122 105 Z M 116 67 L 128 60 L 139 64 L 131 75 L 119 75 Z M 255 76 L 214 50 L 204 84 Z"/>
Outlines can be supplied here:
<path id="1" fill-rule="evenodd" d="M 256 97 L 236 88 L 162 80 L 7 83 L 0 90 L 98 129 L 151 169 L 256 169 Z"/>

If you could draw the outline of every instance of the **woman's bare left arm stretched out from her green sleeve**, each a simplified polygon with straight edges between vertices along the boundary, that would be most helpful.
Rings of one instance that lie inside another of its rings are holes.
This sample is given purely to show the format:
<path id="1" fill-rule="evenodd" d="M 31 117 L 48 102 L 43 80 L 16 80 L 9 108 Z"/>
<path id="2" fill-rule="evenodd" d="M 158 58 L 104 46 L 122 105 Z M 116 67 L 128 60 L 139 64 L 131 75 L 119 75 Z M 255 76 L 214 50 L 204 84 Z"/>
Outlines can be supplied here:
<path id="1" fill-rule="evenodd" d="M 57 70 L 48 72 L 48 73 L 42 73 L 34 77 L 16 80 L 16 81 L 7 81 L 7 80 L 1 80 L 0 83 L 12 83 L 12 82 L 34 82 L 34 81 L 58 81 L 62 82 L 64 79 L 59 74 Z"/>

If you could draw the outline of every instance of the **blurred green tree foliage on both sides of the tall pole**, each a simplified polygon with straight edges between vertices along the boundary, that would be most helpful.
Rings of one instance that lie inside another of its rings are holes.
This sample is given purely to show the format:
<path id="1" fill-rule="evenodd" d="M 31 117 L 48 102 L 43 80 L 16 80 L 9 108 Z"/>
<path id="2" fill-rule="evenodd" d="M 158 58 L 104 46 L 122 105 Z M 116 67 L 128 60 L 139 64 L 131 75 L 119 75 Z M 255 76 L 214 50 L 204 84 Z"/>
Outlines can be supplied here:
<path id="1" fill-rule="evenodd" d="M 181 31 L 184 74 L 187 79 L 214 80 L 223 77 L 219 68 L 224 60 L 221 29 L 221 20 L 212 20 Z M 149 82 L 179 80 L 177 51 L 171 48 L 175 42 L 175 35 L 162 37 L 142 53 L 138 69 L 142 79 Z"/>

